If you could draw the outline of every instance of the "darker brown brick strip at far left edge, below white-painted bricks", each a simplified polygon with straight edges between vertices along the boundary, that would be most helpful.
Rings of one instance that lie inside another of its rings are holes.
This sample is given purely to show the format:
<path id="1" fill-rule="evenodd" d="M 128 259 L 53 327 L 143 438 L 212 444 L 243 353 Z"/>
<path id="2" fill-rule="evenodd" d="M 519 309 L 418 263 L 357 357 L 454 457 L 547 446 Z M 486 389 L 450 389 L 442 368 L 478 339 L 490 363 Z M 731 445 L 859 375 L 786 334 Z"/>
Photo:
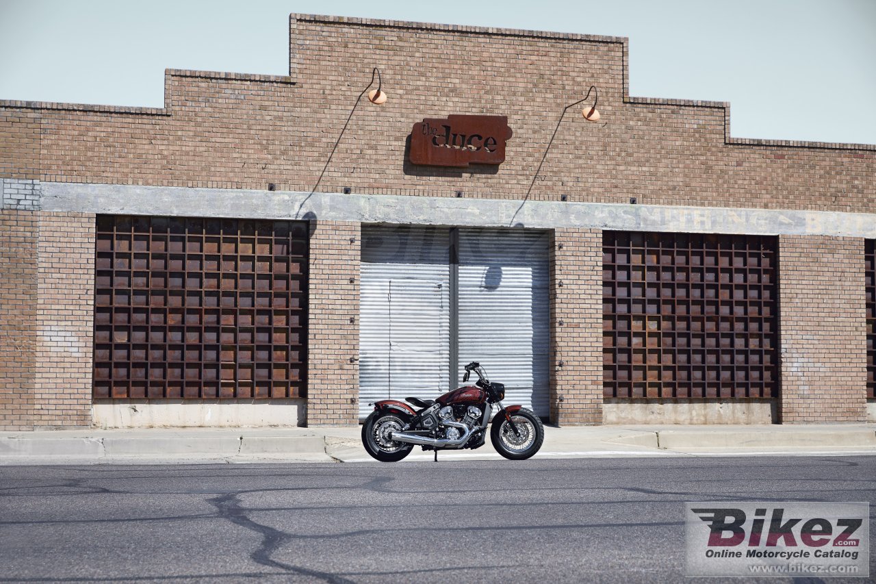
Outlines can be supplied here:
<path id="1" fill-rule="evenodd" d="M 31 430 L 37 345 L 37 214 L 0 210 L 0 430 Z"/>

